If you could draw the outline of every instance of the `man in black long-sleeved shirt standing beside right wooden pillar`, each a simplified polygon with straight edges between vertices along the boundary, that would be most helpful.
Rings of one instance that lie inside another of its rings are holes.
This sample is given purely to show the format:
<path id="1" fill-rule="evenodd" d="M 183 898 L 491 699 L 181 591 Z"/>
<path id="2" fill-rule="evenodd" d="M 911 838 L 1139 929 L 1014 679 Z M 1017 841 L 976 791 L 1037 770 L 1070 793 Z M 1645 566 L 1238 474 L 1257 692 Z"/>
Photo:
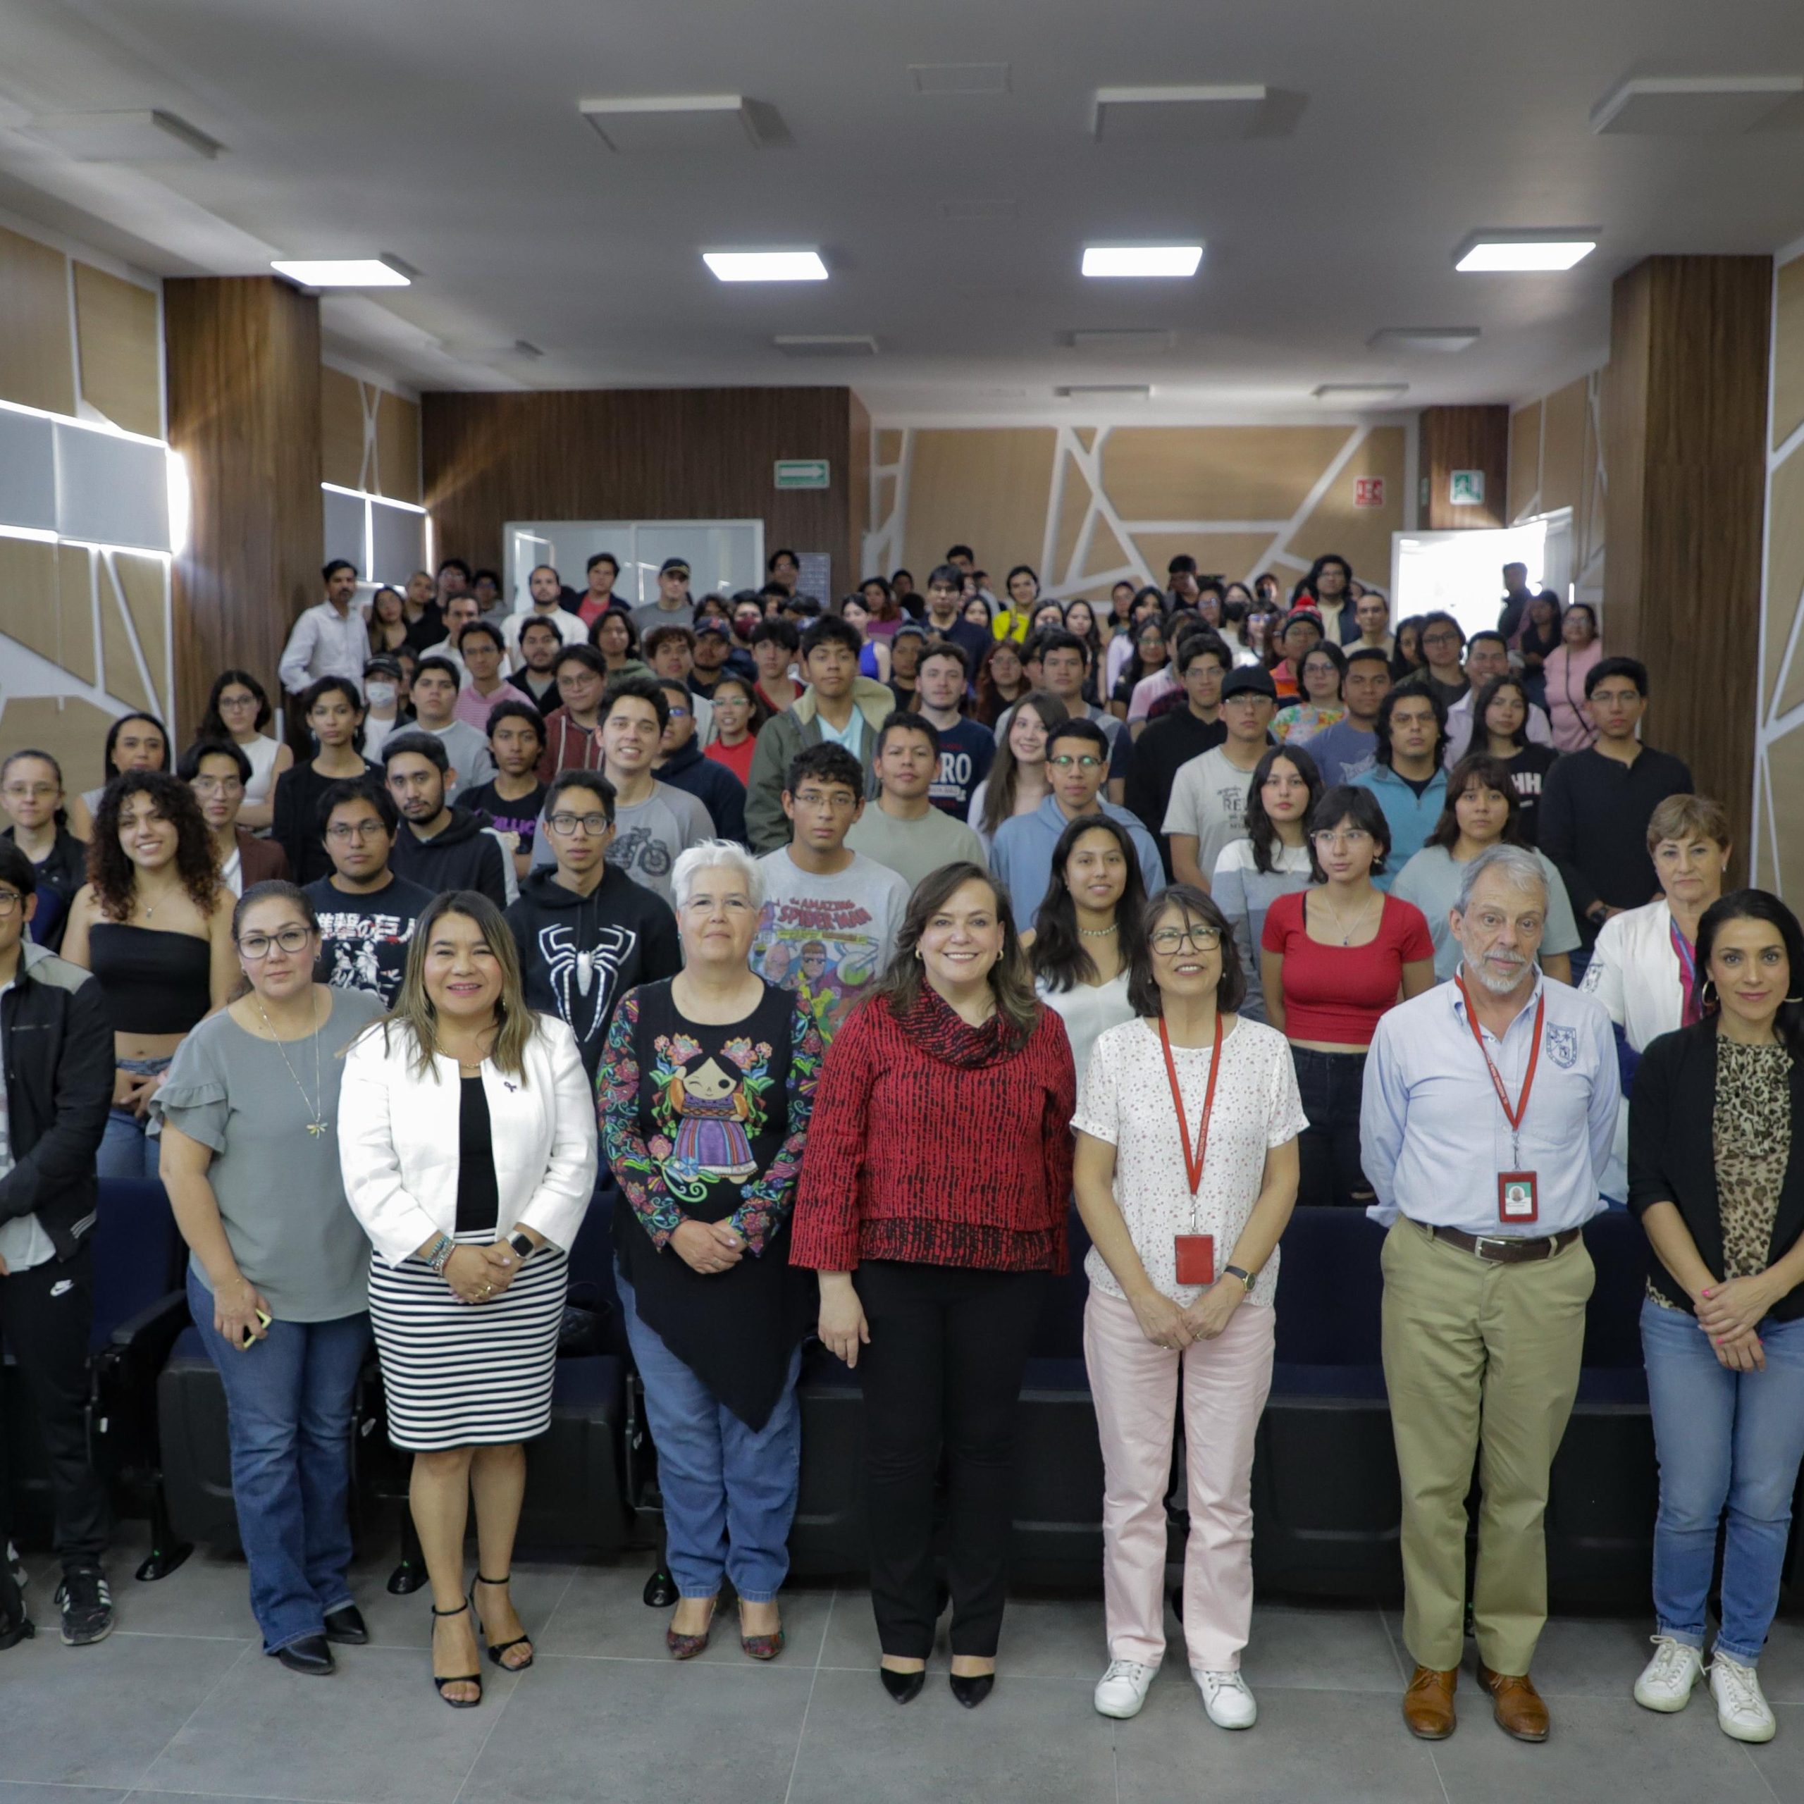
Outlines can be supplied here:
<path id="1" fill-rule="evenodd" d="M 1597 741 L 1568 752 L 1541 788 L 1541 850 L 1560 868 L 1580 913 L 1586 951 L 1611 915 L 1640 907 L 1660 888 L 1647 855 L 1647 821 L 1669 796 L 1692 794 L 1685 761 L 1640 740 L 1647 666 L 1602 658 L 1586 675 Z"/>

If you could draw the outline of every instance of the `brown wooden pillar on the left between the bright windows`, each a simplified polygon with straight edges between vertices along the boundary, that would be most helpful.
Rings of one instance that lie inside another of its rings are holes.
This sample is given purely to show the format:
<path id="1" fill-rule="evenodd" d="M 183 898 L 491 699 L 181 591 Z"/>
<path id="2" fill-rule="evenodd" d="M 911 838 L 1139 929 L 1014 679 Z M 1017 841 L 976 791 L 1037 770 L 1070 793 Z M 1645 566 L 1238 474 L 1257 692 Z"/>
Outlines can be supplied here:
<path id="1" fill-rule="evenodd" d="M 175 563 L 179 731 L 238 664 L 276 660 L 319 599 L 319 303 L 271 276 L 164 283 L 170 442 L 193 511 Z"/>

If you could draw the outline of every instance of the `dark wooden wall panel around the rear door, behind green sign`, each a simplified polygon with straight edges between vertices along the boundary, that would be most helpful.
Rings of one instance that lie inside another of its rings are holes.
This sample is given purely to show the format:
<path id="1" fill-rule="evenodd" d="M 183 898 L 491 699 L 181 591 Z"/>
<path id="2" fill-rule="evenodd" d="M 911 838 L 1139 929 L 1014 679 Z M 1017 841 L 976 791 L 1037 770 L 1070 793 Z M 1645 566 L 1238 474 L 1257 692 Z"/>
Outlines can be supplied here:
<path id="1" fill-rule="evenodd" d="M 830 552 L 841 586 L 857 563 L 850 402 L 846 388 L 428 393 L 438 554 L 500 570 L 509 520 L 763 518 L 767 547 Z M 833 465 L 830 489 L 778 492 L 778 458 L 815 456 Z"/>

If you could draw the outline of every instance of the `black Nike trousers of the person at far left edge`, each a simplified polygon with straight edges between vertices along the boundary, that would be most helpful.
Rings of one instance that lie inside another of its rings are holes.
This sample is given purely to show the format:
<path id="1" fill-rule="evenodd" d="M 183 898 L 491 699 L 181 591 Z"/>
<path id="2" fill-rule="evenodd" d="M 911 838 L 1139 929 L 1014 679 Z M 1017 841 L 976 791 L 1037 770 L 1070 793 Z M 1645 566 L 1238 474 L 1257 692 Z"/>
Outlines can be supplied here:
<path id="1" fill-rule="evenodd" d="M 0 1333 L 18 1360 L 25 1398 L 51 1459 L 54 1546 L 63 1569 L 96 1566 L 106 1551 L 106 1486 L 88 1459 L 88 1333 L 94 1252 L 47 1259 L 0 1277 Z"/>

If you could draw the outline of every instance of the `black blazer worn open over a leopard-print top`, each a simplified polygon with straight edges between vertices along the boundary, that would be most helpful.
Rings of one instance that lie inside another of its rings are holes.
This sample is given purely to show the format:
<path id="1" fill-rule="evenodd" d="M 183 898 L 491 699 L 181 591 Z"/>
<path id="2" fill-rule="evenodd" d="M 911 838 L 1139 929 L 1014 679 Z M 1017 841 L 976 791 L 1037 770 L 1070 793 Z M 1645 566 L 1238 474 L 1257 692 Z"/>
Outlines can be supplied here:
<path id="1" fill-rule="evenodd" d="M 1698 1254 L 1723 1270 L 1723 1216 L 1716 1192 L 1716 1019 L 1661 1034 L 1642 1054 L 1629 1100 L 1629 1209 L 1640 1216 L 1652 1203 L 1672 1203 L 1685 1218 Z M 1782 1259 L 1804 1230 L 1804 1061 L 1791 1061 L 1791 1155 L 1779 1191 L 1773 1239 L 1766 1263 Z M 1672 1274 L 1651 1259 L 1661 1297 L 1690 1310 L 1690 1297 Z M 1772 1308 L 1777 1322 L 1804 1315 L 1804 1284 Z"/>

